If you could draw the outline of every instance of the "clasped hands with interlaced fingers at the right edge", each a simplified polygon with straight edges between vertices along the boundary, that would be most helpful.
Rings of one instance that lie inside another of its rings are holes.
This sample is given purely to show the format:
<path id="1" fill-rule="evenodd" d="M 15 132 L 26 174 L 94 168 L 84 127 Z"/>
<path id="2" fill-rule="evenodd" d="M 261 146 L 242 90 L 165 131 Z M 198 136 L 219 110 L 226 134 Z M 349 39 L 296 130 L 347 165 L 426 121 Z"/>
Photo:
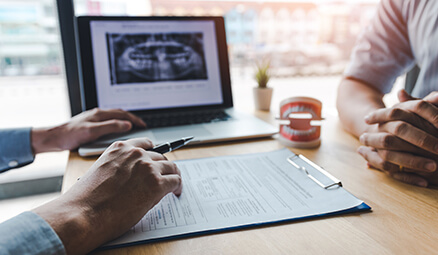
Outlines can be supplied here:
<path id="1" fill-rule="evenodd" d="M 437 184 L 438 94 L 423 100 L 399 92 L 401 103 L 379 109 L 367 118 L 378 124 L 373 133 L 364 133 L 358 152 L 368 164 L 395 179 L 419 186 Z"/>

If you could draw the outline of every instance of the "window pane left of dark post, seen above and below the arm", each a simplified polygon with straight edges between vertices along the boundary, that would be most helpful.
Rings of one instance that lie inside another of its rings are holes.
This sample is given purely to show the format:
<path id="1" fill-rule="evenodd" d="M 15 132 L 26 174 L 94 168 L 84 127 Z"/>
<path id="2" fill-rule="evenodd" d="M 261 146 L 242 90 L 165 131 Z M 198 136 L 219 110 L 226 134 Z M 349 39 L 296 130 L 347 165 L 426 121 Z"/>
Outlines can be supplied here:
<path id="1" fill-rule="evenodd" d="M 70 116 L 55 3 L 0 1 L 0 128 L 47 127 Z M 0 183 L 62 176 L 66 162 L 66 153 L 41 154 Z"/>

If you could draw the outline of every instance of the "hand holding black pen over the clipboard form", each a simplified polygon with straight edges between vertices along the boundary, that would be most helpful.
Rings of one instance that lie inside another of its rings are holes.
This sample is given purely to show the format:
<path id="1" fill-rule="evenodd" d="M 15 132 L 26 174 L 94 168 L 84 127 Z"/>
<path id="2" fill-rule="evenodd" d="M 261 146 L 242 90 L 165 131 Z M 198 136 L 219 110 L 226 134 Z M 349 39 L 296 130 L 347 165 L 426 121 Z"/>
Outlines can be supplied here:
<path id="1" fill-rule="evenodd" d="M 181 194 L 177 166 L 147 139 L 113 143 L 58 199 L 34 210 L 62 240 L 67 254 L 83 254 L 135 225 L 169 192 Z"/>

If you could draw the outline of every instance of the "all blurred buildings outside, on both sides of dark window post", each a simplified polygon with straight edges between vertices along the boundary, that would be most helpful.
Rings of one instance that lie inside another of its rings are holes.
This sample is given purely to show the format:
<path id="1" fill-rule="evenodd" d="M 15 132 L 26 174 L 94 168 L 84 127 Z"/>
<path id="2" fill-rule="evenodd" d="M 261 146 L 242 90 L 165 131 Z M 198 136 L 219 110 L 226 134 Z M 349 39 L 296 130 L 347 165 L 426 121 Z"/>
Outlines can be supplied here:
<path id="1" fill-rule="evenodd" d="M 274 75 L 343 71 L 377 0 L 75 0 L 77 15 L 224 16 L 232 68 L 268 58 Z M 0 75 L 62 71 L 53 0 L 0 2 Z"/>

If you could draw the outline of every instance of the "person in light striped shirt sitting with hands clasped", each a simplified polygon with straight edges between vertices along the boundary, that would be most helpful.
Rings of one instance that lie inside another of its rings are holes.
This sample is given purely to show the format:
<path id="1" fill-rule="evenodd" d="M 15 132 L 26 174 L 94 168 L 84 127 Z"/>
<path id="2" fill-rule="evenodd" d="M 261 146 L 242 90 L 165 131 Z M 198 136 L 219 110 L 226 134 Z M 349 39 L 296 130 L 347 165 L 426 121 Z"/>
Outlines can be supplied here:
<path id="1" fill-rule="evenodd" d="M 438 184 L 438 1 L 382 0 L 355 46 L 337 97 L 345 129 L 358 152 L 391 177 L 422 187 Z M 415 64 L 410 96 L 385 107 L 383 96 Z"/>

